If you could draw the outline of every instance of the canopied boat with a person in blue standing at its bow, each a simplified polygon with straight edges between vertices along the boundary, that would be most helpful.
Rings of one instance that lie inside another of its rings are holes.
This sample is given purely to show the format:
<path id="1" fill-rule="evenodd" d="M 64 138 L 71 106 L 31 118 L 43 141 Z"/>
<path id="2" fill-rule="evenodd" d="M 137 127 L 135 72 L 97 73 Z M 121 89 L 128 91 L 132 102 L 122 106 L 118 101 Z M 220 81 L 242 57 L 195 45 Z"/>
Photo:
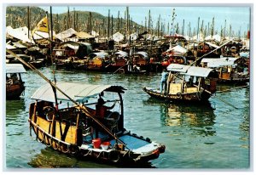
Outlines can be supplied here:
<path id="1" fill-rule="evenodd" d="M 176 102 L 205 102 L 216 92 L 218 73 L 210 68 L 171 64 L 167 67 L 166 91 L 143 88 L 157 99 Z"/>

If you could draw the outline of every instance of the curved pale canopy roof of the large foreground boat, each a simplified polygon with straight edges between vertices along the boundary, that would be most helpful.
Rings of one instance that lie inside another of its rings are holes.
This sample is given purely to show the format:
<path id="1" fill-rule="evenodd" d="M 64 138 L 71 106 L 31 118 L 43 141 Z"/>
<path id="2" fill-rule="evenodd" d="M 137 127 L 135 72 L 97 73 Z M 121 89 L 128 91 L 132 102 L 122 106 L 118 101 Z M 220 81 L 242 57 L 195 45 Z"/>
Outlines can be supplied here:
<path id="1" fill-rule="evenodd" d="M 84 101 L 96 97 L 103 91 L 114 92 L 114 93 L 125 93 L 125 88 L 121 86 L 112 85 L 91 85 L 79 82 L 56 82 L 56 87 L 60 88 L 66 93 L 71 99 L 75 101 Z M 41 88 L 32 95 L 31 99 L 44 100 L 48 102 L 55 102 L 55 95 L 49 83 L 43 85 Z M 70 101 L 65 95 L 57 90 L 58 101 L 66 100 Z"/>

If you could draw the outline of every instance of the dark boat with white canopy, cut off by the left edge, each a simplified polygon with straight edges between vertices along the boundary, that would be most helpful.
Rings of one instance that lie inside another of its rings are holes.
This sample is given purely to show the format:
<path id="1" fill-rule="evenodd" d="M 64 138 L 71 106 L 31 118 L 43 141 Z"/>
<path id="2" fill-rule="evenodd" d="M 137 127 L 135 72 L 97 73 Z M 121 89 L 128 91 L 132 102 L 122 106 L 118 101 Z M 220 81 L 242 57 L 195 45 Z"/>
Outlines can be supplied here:
<path id="1" fill-rule="evenodd" d="M 25 90 L 21 73 L 26 70 L 21 64 L 6 64 L 6 99 L 20 99 Z"/>

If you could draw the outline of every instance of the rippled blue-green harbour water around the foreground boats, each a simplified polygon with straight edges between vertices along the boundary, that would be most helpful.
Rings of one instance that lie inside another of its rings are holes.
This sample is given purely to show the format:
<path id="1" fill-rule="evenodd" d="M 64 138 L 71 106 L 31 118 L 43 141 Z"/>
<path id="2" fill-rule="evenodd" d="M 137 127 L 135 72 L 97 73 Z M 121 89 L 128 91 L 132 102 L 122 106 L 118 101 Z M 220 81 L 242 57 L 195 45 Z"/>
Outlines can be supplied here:
<path id="1" fill-rule="evenodd" d="M 53 79 L 51 70 L 40 71 Z M 6 167 L 112 167 L 91 161 L 79 161 L 50 150 L 30 137 L 28 106 L 31 95 L 44 80 L 28 71 L 23 75 L 25 95 L 6 103 Z M 250 167 L 249 148 L 249 88 L 240 88 L 217 97 L 236 105 L 236 110 L 217 98 L 205 106 L 165 104 L 149 98 L 143 87 L 159 86 L 160 74 L 127 76 L 73 71 L 56 71 L 57 81 L 92 84 L 117 84 L 128 90 L 123 95 L 125 128 L 131 133 L 166 144 L 166 152 L 148 167 L 225 168 Z M 220 87 L 227 89 L 232 87 Z"/>

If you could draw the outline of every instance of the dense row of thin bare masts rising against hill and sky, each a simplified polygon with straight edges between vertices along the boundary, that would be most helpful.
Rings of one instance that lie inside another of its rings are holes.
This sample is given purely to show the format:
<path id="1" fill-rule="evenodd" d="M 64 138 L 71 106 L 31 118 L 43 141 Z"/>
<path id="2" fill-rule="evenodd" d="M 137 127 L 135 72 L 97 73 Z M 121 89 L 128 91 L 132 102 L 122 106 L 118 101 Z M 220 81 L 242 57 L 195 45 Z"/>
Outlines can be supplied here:
<path id="1" fill-rule="evenodd" d="M 26 9 L 27 14 L 26 16 L 24 16 L 24 18 L 22 18 L 21 16 L 20 18 L 10 16 L 11 26 L 16 28 L 26 25 L 28 27 L 28 30 L 31 30 L 35 25 L 37 25 L 38 21 L 45 16 L 45 14 L 31 14 L 30 7 L 27 7 Z M 224 26 L 221 26 L 220 31 L 215 30 L 214 17 L 212 18 L 212 22 L 208 22 L 207 24 L 204 22 L 204 20 L 201 20 L 201 18 L 198 17 L 197 28 L 194 27 L 192 30 L 191 23 L 189 22 L 189 24 L 187 24 L 187 31 L 185 31 L 185 20 L 183 20 L 181 27 L 178 23 L 175 23 L 177 16 L 177 14 L 175 13 L 175 8 L 172 9 L 171 24 L 168 22 L 167 25 L 161 19 L 160 14 L 156 21 L 156 24 L 154 25 L 152 15 L 150 14 L 150 9 L 148 11 L 148 15 L 145 16 L 144 24 L 142 21 L 142 24 L 138 25 L 137 23 L 132 21 L 132 18 L 129 14 L 129 7 L 126 7 L 125 9 L 124 19 L 121 17 L 119 11 L 118 18 L 113 18 L 113 14 L 111 14 L 109 9 L 108 20 L 94 19 L 91 12 L 89 12 L 89 17 L 87 17 L 86 20 L 82 21 L 82 18 L 79 16 L 82 14 L 79 13 L 79 11 L 76 11 L 75 8 L 73 8 L 73 11 L 70 11 L 69 7 L 67 7 L 67 15 L 65 15 L 62 20 L 59 19 L 59 14 L 55 14 L 54 16 L 52 15 L 52 7 L 50 7 L 49 14 L 49 28 L 53 29 L 56 33 L 65 31 L 69 28 L 73 28 L 75 31 L 96 31 L 99 34 L 99 37 L 108 38 L 113 36 L 113 34 L 118 31 L 124 34 L 125 37 L 131 35 L 131 33 L 134 32 L 143 33 L 144 31 L 148 31 L 149 34 L 157 37 L 163 37 L 166 34 L 172 35 L 175 33 L 183 36 L 186 35 L 188 37 L 193 37 L 201 33 L 204 37 L 220 34 L 221 37 L 238 37 L 240 39 L 241 37 L 246 37 L 247 35 L 245 31 L 243 36 L 241 36 L 241 27 L 238 32 L 233 31 L 232 26 L 226 24 L 226 20 L 224 21 Z M 48 15 L 48 12 L 46 12 L 46 15 Z M 113 20 L 115 20 L 116 22 L 113 22 Z M 247 26 L 247 28 L 249 30 L 249 26 Z"/>

